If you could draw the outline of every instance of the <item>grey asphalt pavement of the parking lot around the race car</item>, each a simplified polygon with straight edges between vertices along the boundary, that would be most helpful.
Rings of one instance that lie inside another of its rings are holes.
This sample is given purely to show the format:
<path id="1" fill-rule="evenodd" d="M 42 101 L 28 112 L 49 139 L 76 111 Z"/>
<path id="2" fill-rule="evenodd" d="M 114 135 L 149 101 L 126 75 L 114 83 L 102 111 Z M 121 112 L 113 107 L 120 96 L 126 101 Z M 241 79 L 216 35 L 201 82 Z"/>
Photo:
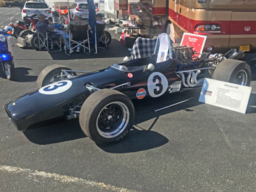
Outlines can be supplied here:
<path id="1" fill-rule="evenodd" d="M 0 8 L 0 24 L 15 14 L 19 20 L 17 12 Z M 200 90 L 190 90 L 134 100 L 132 130 L 108 147 L 87 138 L 77 120 L 24 132 L 13 127 L 4 104 L 36 90 L 43 68 L 60 64 L 94 71 L 129 56 L 110 32 L 108 49 L 89 56 L 22 49 L 10 38 L 17 76 L 14 81 L 0 76 L 0 191 L 255 191 L 255 67 L 246 114 L 198 102 Z"/>

